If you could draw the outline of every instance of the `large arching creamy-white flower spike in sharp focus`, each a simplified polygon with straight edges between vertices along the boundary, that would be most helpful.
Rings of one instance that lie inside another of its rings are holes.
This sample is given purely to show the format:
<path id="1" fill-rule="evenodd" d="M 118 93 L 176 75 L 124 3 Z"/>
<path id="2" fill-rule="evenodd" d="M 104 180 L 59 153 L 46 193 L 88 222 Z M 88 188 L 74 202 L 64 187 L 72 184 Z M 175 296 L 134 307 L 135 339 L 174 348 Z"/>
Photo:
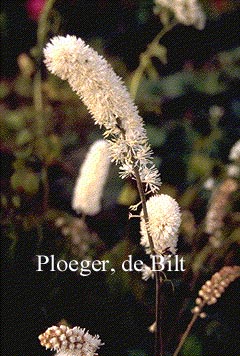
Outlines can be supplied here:
<path id="1" fill-rule="evenodd" d="M 83 40 L 58 36 L 44 50 L 47 68 L 68 80 L 92 114 L 95 124 L 105 128 L 112 161 L 119 163 L 122 178 L 142 172 L 146 189 L 154 193 L 160 175 L 152 161 L 143 120 L 122 80 L 107 61 Z"/>

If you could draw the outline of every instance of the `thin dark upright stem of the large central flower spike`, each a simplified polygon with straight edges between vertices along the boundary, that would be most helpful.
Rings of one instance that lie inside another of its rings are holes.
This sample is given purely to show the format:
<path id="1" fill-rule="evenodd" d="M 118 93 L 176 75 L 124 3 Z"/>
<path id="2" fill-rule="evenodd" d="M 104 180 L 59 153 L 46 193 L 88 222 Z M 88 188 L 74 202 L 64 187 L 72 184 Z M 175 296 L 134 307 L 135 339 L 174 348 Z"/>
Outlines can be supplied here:
<path id="1" fill-rule="evenodd" d="M 142 202 L 142 210 L 143 210 L 143 218 L 145 221 L 145 224 L 147 226 L 149 218 L 148 218 L 148 211 L 147 211 L 147 205 L 146 205 L 146 196 L 144 193 L 142 181 L 139 175 L 139 170 L 138 168 L 134 168 L 134 174 L 137 182 L 137 187 L 140 195 L 140 199 Z M 153 256 L 156 256 L 156 252 L 154 250 L 154 243 L 151 234 L 149 233 L 148 229 L 147 230 L 147 235 L 149 239 L 149 245 L 151 249 L 151 254 Z M 158 262 L 158 260 L 157 260 Z M 161 279 L 161 273 L 158 270 L 159 264 L 156 263 L 157 266 L 157 271 L 155 272 L 155 280 L 156 280 L 156 304 L 155 304 L 155 317 L 156 317 L 156 331 L 155 331 L 155 352 L 154 356 L 163 356 L 163 340 L 162 340 L 162 308 L 161 308 L 161 285 L 162 285 L 162 279 Z"/>

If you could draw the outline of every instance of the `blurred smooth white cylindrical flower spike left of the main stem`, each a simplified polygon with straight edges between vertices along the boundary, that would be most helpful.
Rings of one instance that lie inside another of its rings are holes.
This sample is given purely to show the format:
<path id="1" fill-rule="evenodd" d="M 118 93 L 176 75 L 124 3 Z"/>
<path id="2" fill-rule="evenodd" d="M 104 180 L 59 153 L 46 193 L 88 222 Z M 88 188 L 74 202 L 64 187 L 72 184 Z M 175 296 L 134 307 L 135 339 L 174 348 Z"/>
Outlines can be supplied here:
<path id="1" fill-rule="evenodd" d="M 109 165 L 108 143 L 98 140 L 90 147 L 80 167 L 72 198 L 74 210 L 86 215 L 96 215 L 100 212 Z"/>

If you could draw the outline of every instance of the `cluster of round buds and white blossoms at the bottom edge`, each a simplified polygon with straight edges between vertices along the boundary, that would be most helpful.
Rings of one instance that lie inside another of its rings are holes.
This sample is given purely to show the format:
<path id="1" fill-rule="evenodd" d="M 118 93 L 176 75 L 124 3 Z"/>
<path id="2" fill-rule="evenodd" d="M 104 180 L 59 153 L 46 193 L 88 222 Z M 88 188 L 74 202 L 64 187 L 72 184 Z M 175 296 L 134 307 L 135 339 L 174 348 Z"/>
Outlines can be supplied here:
<path id="1" fill-rule="evenodd" d="M 73 329 L 65 325 L 52 326 L 38 338 L 46 349 L 63 352 L 69 356 L 93 356 L 103 345 L 99 335 L 92 336 L 77 326 Z"/>

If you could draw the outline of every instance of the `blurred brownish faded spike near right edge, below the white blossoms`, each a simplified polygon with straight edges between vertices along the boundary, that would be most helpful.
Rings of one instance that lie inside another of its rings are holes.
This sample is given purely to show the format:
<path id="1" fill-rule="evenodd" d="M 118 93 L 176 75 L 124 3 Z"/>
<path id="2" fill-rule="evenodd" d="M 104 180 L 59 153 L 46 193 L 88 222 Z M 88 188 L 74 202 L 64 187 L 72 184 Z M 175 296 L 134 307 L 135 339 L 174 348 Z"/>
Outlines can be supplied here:
<path id="1" fill-rule="evenodd" d="M 213 192 L 205 221 L 205 231 L 208 234 L 216 234 L 223 226 L 226 214 L 226 205 L 230 201 L 231 194 L 238 188 L 237 182 L 227 178 Z"/>

